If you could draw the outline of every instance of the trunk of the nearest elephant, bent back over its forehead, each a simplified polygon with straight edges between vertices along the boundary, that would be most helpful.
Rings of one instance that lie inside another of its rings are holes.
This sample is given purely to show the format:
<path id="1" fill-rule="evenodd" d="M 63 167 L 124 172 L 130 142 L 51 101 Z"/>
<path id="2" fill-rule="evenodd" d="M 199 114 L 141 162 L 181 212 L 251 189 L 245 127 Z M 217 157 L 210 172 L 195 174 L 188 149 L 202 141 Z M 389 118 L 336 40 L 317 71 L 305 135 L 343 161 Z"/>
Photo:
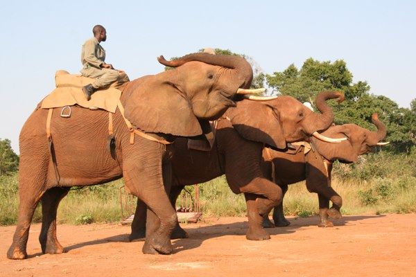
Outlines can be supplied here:
<path id="1" fill-rule="evenodd" d="M 238 80 L 243 82 L 241 88 L 248 89 L 253 80 L 253 70 L 252 66 L 243 58 L 234 55 L 211 55 L 208 53 L 193 53 L 189 55 L 184 55 L 177 60 L 167 61 L 161 55 L 157 57 L 157 60 L 165 65 L 171 67 L 181 66 L 187 62 L 197 61 L 205 62 L 206 64 L 212 64 L 216 66 L 223 66 L 227 69 L 234 69 Z"/>

